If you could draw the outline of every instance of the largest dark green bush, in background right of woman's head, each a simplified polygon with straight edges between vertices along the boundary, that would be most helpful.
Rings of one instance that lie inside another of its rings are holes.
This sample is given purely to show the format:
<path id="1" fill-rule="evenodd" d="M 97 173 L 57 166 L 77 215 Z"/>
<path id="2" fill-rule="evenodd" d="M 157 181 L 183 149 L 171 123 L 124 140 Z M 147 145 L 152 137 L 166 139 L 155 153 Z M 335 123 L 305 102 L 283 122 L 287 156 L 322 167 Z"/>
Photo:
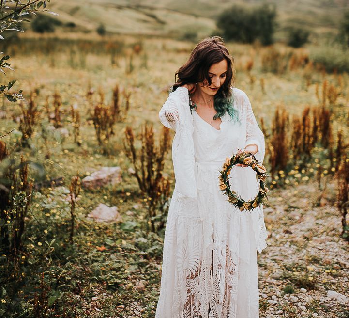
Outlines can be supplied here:
<path id="1" fill-rule="evenodd" d="M 270 45 L 273 43 L 275 18 L 275 6 L 247 9 L 233 5 L 218 16 L 217 26 L 226 40 L 253 43 L 259 39 L 263 45 Z"/>

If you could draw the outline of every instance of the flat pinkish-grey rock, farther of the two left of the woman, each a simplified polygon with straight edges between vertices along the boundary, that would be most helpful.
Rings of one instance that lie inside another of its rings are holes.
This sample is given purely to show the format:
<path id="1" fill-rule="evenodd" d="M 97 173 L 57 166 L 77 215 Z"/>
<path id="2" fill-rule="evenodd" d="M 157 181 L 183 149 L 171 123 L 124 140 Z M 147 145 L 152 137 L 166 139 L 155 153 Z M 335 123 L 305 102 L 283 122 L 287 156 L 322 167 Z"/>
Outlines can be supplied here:
<path id="1" fill-rule="evenodd" d="M 111 183 L 115 185 L 121 182 L 120 167 L 102 167 L 101 170 L 95 171 L 91 175 L 81 180 L 81 185 L 90 190 L 100 188 Z"/>

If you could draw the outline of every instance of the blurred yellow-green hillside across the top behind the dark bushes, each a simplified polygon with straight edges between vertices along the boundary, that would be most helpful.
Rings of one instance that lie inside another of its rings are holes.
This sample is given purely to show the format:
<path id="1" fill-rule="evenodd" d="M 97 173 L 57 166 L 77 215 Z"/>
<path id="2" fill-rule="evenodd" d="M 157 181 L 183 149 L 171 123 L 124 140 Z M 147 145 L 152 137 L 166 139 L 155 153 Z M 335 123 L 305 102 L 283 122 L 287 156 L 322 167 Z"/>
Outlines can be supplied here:
<path id="1" fill-rule="evenodd" d="M 278 40 L 289 26 L 309 28 L 318 36 L 334 33 L 343 10 L 349 8 L 346 0 L 60 0 L 49 6 L 61 21 L 74 22 L 81 30 L 94 31 L 103 23 L 113 33 L 180 37 L 192 32 L 203 37 L 215 30 L 216 17 L 234 3 L 275 3 Z"/>

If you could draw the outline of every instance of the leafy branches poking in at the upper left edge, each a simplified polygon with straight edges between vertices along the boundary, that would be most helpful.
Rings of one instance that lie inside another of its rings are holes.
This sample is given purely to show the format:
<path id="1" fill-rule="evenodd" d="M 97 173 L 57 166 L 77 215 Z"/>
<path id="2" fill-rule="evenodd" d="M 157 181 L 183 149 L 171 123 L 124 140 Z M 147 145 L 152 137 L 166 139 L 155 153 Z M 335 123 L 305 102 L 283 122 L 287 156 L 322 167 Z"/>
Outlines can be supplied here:
<path id="1" fill-rule="evenodd" d="M 24 32 L 21 27 L 21 23 L 24 21 L 30 22 L 26 19 L 26 15 L 32 13 L 36 15 L 35 12 L 47 11 L 47 3 L 50 0 L 1 0 L 0 1 L 0 41 L 4 41 L 3 32 L 6 30 L 13 30 Z M 54 12 L 47 11 L 48 13 L 55 14 Z M 0 52 L 3 54 L 4 52 Z M 11 65 L 8 63 L 10 56 L 2 55 L 0 58 L 0 72 L 6 75 L 5 70 L 13 70 Z M 0 84 L 0 95 L 6 96 L 11 102 L 15 102 L 17 99 L 23 99 L 22 90 L 16 93 L 10 93 L 10 89 L 15 84 L 16 80 L 12 80 L 8 84 Z"/>

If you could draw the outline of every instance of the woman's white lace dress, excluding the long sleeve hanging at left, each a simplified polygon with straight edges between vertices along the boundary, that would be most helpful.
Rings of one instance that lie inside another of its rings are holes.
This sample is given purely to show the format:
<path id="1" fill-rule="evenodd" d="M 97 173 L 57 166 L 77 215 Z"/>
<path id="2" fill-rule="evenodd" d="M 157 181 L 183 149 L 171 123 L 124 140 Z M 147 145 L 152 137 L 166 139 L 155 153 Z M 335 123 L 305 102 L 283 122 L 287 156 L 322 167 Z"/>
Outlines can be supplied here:
<path id="1" fill-rule="evenodd" d="M 188 94 L 184 88 L 177 90 L 172 98 Z M 266 247 L 267 237 L 263 210 L 250 213 L 232 207 L 219 188 L 218 176 L 226 157 L 247 144 L 258 145 L 256 158 L 262 161 L 264 136 L 247 95 L 237 88 L 233 93 L 243 125 L 226 113 L 218 130 L 196 111 L 192 113 L 197 213 L 180 208 L 175 188 L 167 217 L 156 318 L 258 318 L 257 248 L 261 252 Z M 159 116 L 163 123 L 173 124 L 177 113 L 170 101 Z M 258 182 L 250 167 L 234 166 L 229 176 L 231 189 L 243 199 L 256 195 Z M 258 242 L 252 213 L 259 214 Z"/>

